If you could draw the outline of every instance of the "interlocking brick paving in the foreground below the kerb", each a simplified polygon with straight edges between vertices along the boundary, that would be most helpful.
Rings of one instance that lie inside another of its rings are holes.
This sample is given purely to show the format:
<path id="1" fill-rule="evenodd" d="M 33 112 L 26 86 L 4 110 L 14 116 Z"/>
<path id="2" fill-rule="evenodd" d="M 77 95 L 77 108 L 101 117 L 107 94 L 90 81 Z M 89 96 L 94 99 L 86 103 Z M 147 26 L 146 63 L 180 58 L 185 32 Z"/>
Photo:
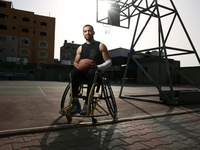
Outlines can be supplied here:
<path id="1" fill-rule="evenodd" d="M 200 113 L 0 138 L 0 150 L 199 150 Z"/>

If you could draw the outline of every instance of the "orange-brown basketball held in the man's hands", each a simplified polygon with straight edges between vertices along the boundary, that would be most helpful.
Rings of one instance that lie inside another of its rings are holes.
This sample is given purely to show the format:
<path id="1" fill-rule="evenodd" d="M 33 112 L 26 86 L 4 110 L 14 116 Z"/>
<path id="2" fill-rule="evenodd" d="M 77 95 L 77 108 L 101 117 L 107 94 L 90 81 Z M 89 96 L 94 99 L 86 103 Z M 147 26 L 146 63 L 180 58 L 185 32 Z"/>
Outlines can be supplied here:
<path id="1" fill-rule="evenodd" d="M 96 68 L 96 64 L 90 59 L 81 59 L 77 67 L 78 70 L 85 72 L 89 71 L 91 68 Z"/>

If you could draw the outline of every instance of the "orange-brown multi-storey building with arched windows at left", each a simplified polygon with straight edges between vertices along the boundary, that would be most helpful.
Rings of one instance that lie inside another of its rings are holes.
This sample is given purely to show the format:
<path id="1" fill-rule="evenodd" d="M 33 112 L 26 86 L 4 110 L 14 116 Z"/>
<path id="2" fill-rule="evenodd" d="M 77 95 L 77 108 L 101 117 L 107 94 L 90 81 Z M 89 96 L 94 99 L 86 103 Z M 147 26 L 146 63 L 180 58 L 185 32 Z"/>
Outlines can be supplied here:
<path id="1" fill-rule="evenodd" d="M 0 1 L 0 61 L 54 63 L 55 18 L 11 8 Z"/>

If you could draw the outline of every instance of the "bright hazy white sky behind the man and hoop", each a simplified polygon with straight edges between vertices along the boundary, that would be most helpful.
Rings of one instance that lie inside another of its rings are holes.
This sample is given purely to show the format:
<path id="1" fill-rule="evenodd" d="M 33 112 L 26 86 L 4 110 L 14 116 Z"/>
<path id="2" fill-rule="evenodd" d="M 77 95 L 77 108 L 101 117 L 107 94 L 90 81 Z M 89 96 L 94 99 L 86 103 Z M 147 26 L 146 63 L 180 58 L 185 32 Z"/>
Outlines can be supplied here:
<path id="1" fill-rule="evenodd" d="M 85 24 L 91 24 L 95 29 L 95 40 L 104 43 L 108 50 L 115 48 L 130 49 L 132 37 L 135 29 L 134 18 L 131 19 L 129 29 L 120 27 L 105 27 L 103 24 L 96 22 L 96 0 L 6 0 L 12 1 L 15 9 L 34 12 L 37 15 L 50 16 L 56 18 L 55 27 L 55 47 L 54 58 L 60 59 L 60 47 L 64 40 L 71 43 L 83 44 L 85 39 L 82 34 L 82 28 Z M 163 0 L 162 0 L 163 1 Z M 169 0 L 165 0 L 169 1 Z M 174 0 L 173 1 L 184 25 L 192 39 L 198 55 L 200 55 L 200 0 Z M 110 34 L 106 34 L 105 30 L 110 30 Z M 174 29 L 173 40 L 169 43 L 173 46 L 183 46 L 189 48 L 187 40 L 183 39 L 180 27 Z M 147 37 L 154 34 L 156 29 L 151 29 L 138 45 L 135 50 L 143 48 L 143 46 L 152 46 L 154 38 Z M 179 31 L 180 30 L 180 31 Z M 195 55 L 185 55 L 173 57 L 175 60 L 181 61 L 182 67 L 199 66 L 199 62 Z"/>

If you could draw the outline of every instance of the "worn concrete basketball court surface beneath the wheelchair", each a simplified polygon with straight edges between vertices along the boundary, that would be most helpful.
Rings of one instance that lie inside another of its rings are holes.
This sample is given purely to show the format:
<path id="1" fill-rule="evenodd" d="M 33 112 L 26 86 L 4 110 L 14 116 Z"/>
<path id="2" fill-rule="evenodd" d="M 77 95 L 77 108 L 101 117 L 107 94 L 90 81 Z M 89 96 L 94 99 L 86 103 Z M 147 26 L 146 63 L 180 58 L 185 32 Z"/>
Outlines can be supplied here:
<path id="1" fill-rule="evenodd" d="M 59 114 L 61 97 L 67 84 L 53 81 L 0 81 L 0 135 L 55 125 L 91 124 L 91 118 L 85 117 L 73 117 L 72 123 L 68 124 L 65 116 Z M 170 106 L 120 99 L 120 84 L 111 85 L 118 106 L 119 121 L 200 111 L 200 104 Z M 153 92 L 155 89 L 151 86 L 129 85 L 123 89 L 123 94 L 128 95 Z M 96 119 L 98 122 L 112 121 L 111 116 Z"/>

